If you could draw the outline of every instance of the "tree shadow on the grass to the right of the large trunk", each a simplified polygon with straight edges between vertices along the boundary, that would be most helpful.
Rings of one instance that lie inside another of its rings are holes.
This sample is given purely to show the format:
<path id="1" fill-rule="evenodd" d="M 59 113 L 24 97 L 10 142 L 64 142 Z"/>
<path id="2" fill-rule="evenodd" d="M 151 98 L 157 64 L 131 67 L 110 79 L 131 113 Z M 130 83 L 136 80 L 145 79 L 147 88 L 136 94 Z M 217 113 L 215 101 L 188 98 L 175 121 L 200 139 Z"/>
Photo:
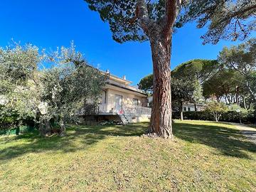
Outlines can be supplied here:
<path id="1" fill-rule="evenodd" d="M 200 143 L 218 149 L 220 154 L 250 159 L 245 151 L 256 152 L 256 144 L 249 142 L 237 129 L 207 124 L 177 123 L 174 135 L 191 143 Z"/>

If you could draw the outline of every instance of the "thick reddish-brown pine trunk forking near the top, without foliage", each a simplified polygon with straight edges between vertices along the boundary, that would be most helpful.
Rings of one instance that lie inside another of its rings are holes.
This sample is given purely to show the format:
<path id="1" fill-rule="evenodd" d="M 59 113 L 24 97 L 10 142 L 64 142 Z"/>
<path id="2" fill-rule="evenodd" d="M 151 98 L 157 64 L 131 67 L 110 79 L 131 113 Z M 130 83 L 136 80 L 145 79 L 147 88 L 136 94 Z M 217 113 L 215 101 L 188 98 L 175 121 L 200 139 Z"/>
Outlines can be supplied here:
<path id="1" fill-rule="evenodd" d="M 161 23 L 152 20 L 146 1 L 137 0 L 136 16 L 151 45 L 154 89 L 148 134 L 173 138 L 171 126 L 171 37 L 181 1 L 166 0 Z"/>

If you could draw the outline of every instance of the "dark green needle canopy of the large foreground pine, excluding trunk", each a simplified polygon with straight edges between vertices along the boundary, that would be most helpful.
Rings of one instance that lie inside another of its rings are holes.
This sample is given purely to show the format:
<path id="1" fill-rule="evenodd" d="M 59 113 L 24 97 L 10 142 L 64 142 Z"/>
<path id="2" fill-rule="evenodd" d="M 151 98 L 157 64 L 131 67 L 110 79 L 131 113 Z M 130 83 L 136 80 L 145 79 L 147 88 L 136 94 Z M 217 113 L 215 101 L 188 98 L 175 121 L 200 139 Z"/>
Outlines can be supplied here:
<path id="1" fill-rule="evenodd" d="M 113 39 L 125 41 L 146 41 L 148 37 L 137 18 L 137 0 L 102 1 L 85 0 L 92 11 L 97 11 L 104 22 L 110 24 Z M 158 25 L 164 23 L 166 1 L 146 1 L 149 18 Z M 198 28 L 207 26 L 208 32 L 202 38 L 204 43 L 218 43 L 221 38 L 245 38 L 255 27 L 252 18 L 255 1 L 196 0 L 182 1 L 182 7 L 175 24 L 180 28 L 189 21 L 197 21 Z"/>

